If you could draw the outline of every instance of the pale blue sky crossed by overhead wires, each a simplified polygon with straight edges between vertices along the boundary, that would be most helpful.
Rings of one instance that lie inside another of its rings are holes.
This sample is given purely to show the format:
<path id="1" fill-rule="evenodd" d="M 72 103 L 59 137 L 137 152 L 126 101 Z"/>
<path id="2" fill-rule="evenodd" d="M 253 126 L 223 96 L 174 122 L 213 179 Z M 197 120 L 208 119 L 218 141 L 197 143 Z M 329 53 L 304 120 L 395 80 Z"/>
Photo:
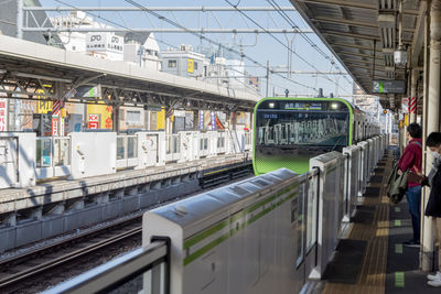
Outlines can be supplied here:
<path id="1" fill-rule="evenodd" d="M 133 7 L 130 1 L 123 0 L 41 0 L 43 7 Z M 232 7 L 237 6 L 238 9 L 244 7 L 270 7 L 268 0 L 181 0 L 181 1 L 148 1 L 136 0 L 146 8 L 155 7 Z M 292 7 L 288 0 L 276 0 L 280 7 Z M 96 21 L 111 21 L 111 25 L 140 29 L 140 28 L 175 28 L 163 20 L 158 19 L 147 12 L 92 12 L 95 14 Z M 258 25 L 265 29 L 290 29 L 292 23 L 300 29 L 310 29 L 295 11 L 287 11 L 287 18 L 282 18 L 278 12 L 250 12 L 244 14 L 235 12 L 158 12 L 165 19 L 172 20 L 185 28 L 196 29 L 258 29 Z M 54 12 L 52 15 L 60 15 L 60 12 Z M 94 17 L 94 15 L 92 15 Z M 100 17 L 101 19 L 97 19 Z M 252 23 L 251 20 L 257 24 Z M 291 24 L 289 23 L 291 22 Z M 330 58 L 325 58 L 314 50 L 300 34 L 204 34 L 211 40 L 222 43 L 226 46 L 235 46 L 240 51 L 239 44 L 243 44 L 244 54 L 261 65 L 267 65 L 269 62 L 272 70 L 286 70 L 289 51 L 287 46 L 293 44 L 292 53 L 292 70 L 302 72 L 338 72 L 335 67 L 344 70 L 344 67 L 336 61 L 333 54 L 321 42 L 315 34 L 308 34 L 310 40 L 316 44 L 318 48 L 325 53 Z M 194 36 L 189 33 L 157 33 L 155 37 L 160 41 L 161 50 L 166 50 L 170 45 L 179 46 L 180 44 L 193 45 L 195 51 L 207 46 L 215 46 L 207 41 L 201 40 L 200 36 Z M 277 40 L 275 40 L 275 37 Z M 163 43 L 161 43 L 163 42 Z M 280 44 L 282 43 L 282 44 Z M 236 59 L 240 56 L 236 55 Z M 335 65 L 331 63 L 335 62 Z M 246 70 L 254 76 L 260 77 L 261 92 L 266 95 L 266 68 L 257 66 L 250 61 L 245 59 Z M 284 67 L 284 68 L 283 68 Z M 345 70 L 344 70 L 345 72 Z M 283 77 L 281 77 L 281 76 Z M 269 79 L 269 96 L 272 94 L 284 95 L 286 89 L 290 96 L 316 95 L 318 88 L 323 88 L 324 96 L 330 96 L 332 92 L 335 97 L 347 97 L 352 95 L 352 78 L 351 76 L 341 75 L 312 75 L 312 74 L 292 74 L 287 77 L 287 74 L 271 74 Z M 299 85 L 301 84 L 301 85 Z"/>

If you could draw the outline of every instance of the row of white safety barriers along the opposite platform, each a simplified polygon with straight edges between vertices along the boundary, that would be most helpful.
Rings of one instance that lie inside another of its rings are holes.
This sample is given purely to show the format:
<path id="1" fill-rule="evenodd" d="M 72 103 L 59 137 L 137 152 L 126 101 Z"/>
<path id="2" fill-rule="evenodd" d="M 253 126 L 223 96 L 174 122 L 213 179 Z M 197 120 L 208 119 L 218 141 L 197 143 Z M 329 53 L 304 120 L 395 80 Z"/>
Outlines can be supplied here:
<path id="1" fill-rule="evenodd" d="M 35 179 L 61 176 L 79 179 L 250 149 L 249 131 L 73 132 L 41 138 L 34 133 L 0 133 L 0 188 L 29 187 Z"/>

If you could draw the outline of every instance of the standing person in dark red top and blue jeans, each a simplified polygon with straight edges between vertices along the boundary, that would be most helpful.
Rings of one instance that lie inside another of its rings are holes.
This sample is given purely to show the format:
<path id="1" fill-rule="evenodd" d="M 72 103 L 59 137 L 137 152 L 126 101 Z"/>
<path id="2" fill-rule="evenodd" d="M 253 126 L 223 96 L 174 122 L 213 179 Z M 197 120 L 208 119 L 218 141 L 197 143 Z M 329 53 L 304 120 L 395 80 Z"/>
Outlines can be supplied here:
<path id="1" fill-rule="evenodd" d="M 422 130 L 418 123 L 410 123 L 407 127 L 406 138 L 409 140 L 405 152 L 398 162 L 399 173 L 409 171 L 406 198 L 409 205 L 409 213 L 412 219 L 413 238 L 405 246 L 420 246 L 420 224 L 421 224 L 421 166 L 422 166 Z"/>

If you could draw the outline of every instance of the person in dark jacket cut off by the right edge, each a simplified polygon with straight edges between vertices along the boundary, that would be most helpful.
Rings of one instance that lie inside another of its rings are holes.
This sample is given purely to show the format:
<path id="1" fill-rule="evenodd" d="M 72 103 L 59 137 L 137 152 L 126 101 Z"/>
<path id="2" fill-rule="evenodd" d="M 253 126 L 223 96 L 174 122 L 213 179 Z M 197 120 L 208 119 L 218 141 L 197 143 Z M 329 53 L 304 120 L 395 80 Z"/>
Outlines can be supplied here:
<path id="1" fill-rule="evenodd" d="M 426 145 L 433 154 L 434 161 L 432 168 L 428 175 L 430 185 L 429 200 L 426 206 L 424 215 L 432 217 L 435 240 L 440 246 L 441 241 L 441 133 L 432 132 L 429 134 Z M 438 248 L 438 265 L 441 266 L 441 247 Z M 431 286 L 441 286 L 441 272 L 438 270 L 435 274 L 428 275 L 428 284 Z"/>

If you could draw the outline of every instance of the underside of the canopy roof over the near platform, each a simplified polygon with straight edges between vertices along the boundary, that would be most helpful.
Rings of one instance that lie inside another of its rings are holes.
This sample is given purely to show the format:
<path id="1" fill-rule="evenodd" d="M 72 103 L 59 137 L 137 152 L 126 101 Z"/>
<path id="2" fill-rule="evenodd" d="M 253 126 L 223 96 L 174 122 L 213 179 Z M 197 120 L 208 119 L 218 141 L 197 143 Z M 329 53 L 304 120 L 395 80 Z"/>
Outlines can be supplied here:
<path id="1" fill-rule="evenodd" d="M 399 106 L 406 69 L 422 66 L 427 1 L 291 2 L 363 90 L 380 96 L 383 107 Z M 401 53 L 406 64 L 395 62 L 394 55 Z"/>

